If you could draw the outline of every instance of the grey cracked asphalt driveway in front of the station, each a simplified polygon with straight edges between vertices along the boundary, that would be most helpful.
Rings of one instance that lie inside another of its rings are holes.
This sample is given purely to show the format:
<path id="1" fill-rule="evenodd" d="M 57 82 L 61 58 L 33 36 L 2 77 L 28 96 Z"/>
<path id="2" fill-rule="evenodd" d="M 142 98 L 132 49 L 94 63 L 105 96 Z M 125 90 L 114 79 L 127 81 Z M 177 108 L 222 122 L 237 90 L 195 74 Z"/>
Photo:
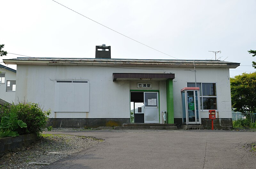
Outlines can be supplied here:
<path id="1" fill-rule="evenodd" d="M 246 144 L 256 132 L 92 130 L 48 132 L 103 138 L 100 144 L 44 168 L 256 168 Z M 244 147 L 245 146 L 245 147 Z"/>

